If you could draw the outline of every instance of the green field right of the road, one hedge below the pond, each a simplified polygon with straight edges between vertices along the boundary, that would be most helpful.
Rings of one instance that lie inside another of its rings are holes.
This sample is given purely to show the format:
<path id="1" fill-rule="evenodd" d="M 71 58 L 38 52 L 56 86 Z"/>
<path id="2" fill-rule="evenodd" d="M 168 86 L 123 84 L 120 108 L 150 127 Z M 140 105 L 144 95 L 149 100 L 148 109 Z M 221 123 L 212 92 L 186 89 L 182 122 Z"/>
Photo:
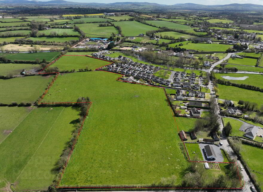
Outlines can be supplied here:
<path id="1" fill-rule="evenodd" d="M 218 89 L 220 99 L 228 99 L 233 101 L 243 100 L 255 102 L 258 104 L 258 106 L 262 105 L 262 92 L 220 84 L 218 84 Z"/>

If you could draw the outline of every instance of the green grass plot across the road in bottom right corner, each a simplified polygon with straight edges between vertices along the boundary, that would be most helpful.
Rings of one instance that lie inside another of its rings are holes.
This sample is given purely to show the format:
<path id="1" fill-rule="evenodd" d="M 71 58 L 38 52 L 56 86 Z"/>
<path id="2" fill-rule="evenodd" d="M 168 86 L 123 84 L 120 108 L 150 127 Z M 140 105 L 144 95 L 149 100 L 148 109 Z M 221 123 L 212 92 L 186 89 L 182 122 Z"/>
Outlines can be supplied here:
<path id="1" fill-rule="evenodd" d="M 253 171 L 260 171 L 263 173 L 263 164 L 262 164 L 262 158 L 263 158 L 263 149 L 257 148 L 250 145 L 242 144 L 240 148 L 240 154 L 246 161 L 248 167 Z M 256 180 L 259 182 L 260 188 L 263 188 L 263 175 L 252 172 L 256 175 Z"/>

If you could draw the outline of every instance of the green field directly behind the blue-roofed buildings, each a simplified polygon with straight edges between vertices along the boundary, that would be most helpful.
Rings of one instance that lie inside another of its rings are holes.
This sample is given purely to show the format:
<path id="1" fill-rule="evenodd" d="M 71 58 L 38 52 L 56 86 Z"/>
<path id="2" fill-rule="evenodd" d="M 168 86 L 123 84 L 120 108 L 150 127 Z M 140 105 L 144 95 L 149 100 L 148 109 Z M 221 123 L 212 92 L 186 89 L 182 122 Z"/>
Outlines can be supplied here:
<path id="1" fill-rule="evenodd" d="M 76 24 L 87 36 L 90 37 L 110 37 L 111 34 L 118 34 L 114 26 L 99 27 L 98 23 Z"/>

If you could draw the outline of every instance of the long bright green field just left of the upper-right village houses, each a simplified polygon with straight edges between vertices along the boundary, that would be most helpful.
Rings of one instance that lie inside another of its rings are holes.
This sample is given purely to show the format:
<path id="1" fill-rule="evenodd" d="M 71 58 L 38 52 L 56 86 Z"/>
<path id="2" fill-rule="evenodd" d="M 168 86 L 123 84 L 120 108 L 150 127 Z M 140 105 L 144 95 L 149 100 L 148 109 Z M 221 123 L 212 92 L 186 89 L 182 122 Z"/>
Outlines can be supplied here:
<path id="1" fill-rule="evenodd" d="M 229 47 L 232 47 L 231 45 L 225 45 L 225 44 L 190 43 L 189 41 L 169 44 L 169 47 L 175 47 L 176 45 L 178 46 L 180 43 L 183 43 L 183 45 L 180 46 L 181 48 L 194 49 L 194 50 L 198 50 L 198 51 L 222 51 L 222 52 L 224 52 Z"/>

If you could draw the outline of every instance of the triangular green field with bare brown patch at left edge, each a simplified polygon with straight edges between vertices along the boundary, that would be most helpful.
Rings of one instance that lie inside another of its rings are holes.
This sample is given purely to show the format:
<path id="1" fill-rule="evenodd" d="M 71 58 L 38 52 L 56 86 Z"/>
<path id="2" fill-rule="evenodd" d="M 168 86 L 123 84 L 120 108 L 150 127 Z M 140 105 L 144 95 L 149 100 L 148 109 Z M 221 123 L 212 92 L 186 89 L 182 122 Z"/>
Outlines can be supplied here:
<path id="1" fill-rule="evenodd" d="M 32 107 L 0 107 L 0 144 L 32 109 Z"/>

